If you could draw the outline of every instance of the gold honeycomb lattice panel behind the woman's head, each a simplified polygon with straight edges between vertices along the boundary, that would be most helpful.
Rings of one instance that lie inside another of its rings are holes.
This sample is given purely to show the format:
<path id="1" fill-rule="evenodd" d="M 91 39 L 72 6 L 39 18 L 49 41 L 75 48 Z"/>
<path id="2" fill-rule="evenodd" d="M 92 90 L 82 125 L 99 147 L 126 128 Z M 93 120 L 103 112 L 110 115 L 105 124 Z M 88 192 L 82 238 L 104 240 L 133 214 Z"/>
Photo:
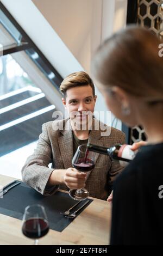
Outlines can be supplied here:
<path id="1" fill-rule="evenodd" d="M 137 0 L 137 23 L 148 27 L 163 39 L 163 0 Z M 145 130 L 140 126 L 131 129 L 131 144 L 146 141 Z"/>

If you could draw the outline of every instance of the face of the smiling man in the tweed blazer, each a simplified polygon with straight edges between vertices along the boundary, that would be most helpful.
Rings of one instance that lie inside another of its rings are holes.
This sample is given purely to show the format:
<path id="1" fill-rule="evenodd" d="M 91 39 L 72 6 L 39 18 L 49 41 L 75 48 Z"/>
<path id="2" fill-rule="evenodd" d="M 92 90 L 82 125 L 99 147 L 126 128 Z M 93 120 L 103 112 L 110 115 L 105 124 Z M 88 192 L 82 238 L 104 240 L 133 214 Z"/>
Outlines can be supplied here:
<path id="1" fill-rule="evenodd" d="M 62 99 L 69 117 L 76 123 L 87 123 L 89 113 L 94 112 L 96 97 L 93 97 L 90 86 L 70 88 L 66 92 L 66 98 Z"/>

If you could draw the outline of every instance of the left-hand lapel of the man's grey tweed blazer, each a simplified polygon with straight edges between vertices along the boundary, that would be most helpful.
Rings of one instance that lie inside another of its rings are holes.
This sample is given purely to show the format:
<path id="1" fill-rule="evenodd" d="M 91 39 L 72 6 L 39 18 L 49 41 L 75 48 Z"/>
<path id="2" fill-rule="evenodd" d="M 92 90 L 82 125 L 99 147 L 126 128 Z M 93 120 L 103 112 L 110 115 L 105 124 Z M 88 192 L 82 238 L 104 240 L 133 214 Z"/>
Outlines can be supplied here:
<path id="1" fill-rule="evenodd" d="M 58 144 L 65 169 L 72 167 L 73 136 L 70 129 L 70 120 L 65 120 L 65 127 L 60 131 L 62 135 L 58 138 Z"/>

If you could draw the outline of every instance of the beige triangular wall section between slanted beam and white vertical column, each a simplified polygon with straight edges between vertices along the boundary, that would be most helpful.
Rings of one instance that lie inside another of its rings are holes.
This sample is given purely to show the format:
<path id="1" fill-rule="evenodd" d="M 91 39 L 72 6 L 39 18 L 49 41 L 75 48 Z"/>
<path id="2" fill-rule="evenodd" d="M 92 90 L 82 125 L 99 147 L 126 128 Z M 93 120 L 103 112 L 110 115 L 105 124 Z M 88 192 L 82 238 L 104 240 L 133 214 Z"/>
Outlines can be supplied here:
<path id="1" fill-rule="evenodd" d="M 85 70 L 90 63 L 92 7 L 101 0 L 33 0 Z"/>

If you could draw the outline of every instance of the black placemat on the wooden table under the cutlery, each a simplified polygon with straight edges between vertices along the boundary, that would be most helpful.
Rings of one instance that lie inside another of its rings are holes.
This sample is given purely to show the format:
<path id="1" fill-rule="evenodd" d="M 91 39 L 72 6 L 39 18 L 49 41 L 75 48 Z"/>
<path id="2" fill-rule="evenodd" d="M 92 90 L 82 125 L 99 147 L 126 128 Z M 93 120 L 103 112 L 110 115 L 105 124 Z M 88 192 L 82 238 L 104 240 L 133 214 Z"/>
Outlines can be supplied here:
<path id="1" fill-rule="evenodd" d="M 90 203 L 92 202 L 91 199 Z M 21 182 L 9 192 L 0 198 L 0 214 L 8 215 L 10 217 L 22 220 L 24 209 L 31 204 L 41 204 L 45 207 L 46 214 L 49 221 L 49 227 L 53 230 L 62 231 L 74 219 L 66 218 L 60 212 L 64 212 L 77 201 L 73 200 L 67 193 L 57 191 L 52 196 L 42 196 L 42 194 L 35 191 L 33 188 L 28 187 Z M 85 200 L 76 206 L 76 210 L 85 203 Z M 82 212 L 90 203 L 79 211 Z M 78 216 L 78 215 L 77 215 Z"/>

